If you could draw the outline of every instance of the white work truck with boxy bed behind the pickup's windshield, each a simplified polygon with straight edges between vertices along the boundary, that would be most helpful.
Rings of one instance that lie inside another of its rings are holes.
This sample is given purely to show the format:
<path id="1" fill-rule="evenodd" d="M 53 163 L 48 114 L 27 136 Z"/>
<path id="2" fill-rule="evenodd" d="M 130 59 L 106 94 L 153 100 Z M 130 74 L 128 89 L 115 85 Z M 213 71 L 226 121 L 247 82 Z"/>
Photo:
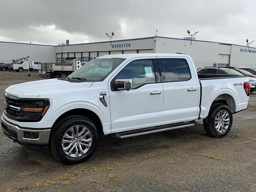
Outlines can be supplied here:
<path id="1" fill-rule="evenodd" d="M 44 75 L 50 78 L 61 77 L 66 78 L 75 70 L 78 70 L 86 62 L 76 60 L 75 57 L 67 57 L 63 63 L 44 63 L 41 66 L 38 74 Z"/>

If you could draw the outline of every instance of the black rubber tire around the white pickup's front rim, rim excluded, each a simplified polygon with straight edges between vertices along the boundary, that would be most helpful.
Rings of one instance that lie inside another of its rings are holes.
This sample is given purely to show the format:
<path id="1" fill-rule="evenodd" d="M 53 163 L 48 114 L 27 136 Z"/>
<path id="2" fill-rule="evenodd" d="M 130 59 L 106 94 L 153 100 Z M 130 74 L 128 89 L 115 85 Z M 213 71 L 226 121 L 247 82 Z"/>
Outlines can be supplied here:
<path id="1" fill-rule="evenodd" d="M 80 157 L 70 157 L 62 149 L 62 137 L 66 131 L 72 126 L 81 125 L 90 130 L 92 136 L 92 143 L 88 151 Z M 98 131 L 94 123 L 83 116 L 68 116 L 61 120 L 52 128 L 50 136 L 50 151 L 52 155 L 65 164 L 77 164 L 88 160 L 94 153 L 98 144 Z"/>

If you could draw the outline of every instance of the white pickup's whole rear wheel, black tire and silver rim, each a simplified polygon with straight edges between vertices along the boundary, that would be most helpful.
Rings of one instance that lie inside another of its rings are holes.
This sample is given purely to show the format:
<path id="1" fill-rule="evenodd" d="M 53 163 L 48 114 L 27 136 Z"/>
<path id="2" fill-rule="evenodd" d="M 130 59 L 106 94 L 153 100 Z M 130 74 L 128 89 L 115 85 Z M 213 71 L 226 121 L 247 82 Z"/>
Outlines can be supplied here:
<path id="1" fill-rule="evenodd" d="M 205 132 L 215 138 L 226 136 L 232 127 L 232 111 L 225 104 L 214 104 L 203 120 Z"/>

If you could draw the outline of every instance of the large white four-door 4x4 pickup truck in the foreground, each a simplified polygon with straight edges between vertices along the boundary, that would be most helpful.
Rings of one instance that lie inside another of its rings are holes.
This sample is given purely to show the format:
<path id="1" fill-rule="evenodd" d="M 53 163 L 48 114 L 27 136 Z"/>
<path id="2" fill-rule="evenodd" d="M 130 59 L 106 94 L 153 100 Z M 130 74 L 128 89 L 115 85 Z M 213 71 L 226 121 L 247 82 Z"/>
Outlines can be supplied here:
<path id="1" fill-rule="evenodd" d="M 100 136 L 127 138 L 194 126 L 228 134 L 232 114 L 249 106 L 247 76 L 197 74 L 182 54 L 104 55 L 66 79 L 5 90 L 2 130 L 25 146 L 48 145 L 61 162 L 92 156 Z"/>

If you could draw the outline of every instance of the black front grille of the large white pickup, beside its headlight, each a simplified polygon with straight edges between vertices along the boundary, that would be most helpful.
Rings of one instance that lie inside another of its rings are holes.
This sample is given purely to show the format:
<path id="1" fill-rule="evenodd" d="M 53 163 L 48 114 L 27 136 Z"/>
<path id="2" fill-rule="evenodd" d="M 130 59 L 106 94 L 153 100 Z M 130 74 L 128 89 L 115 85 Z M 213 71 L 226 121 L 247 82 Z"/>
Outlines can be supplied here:
<path id="1" fill-rule="evenodd" d="M 25 108 L 24 100 L 18 100 L 13 96 L 5 96 L 4 113 L 11 118 L 22 118 L 25 112 L 20 109 Z"/>

